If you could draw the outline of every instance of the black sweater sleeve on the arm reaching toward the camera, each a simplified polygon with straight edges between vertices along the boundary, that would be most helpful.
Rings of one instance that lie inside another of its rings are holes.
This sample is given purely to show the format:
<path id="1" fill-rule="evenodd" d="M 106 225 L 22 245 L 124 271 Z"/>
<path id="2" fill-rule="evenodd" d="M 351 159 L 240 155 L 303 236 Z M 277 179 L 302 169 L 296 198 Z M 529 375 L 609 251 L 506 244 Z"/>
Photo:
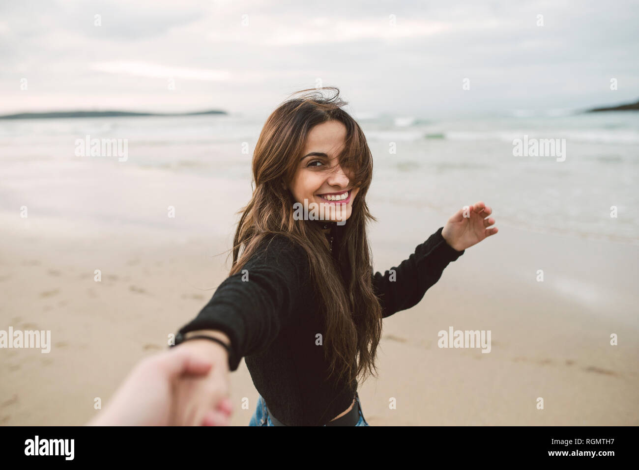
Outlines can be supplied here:
<path id="1" fill-rule="evenodd" d="M 231 340 L 229 370 L 236 370 L 243 356 L 266 349 L 296 314 L 307 266 L 301 246 L 281 235 L 266 238 L 180 333 L 223 331 Z"/>

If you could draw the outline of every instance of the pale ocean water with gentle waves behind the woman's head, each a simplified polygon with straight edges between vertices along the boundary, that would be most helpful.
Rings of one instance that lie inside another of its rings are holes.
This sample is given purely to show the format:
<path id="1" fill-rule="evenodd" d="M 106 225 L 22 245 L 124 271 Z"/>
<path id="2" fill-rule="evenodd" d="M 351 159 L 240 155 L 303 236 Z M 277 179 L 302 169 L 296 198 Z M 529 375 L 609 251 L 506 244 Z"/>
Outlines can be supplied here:
<path id="1" fill-rule="evenodd" d="M 79 232 L 227 235 L 250 197 L 252 151 L 265 117 L 0 121 L 0 211 L 12 217 L 26 208 L 23 218 L 58 220 Z M 358 122 L 374 158 L 373 215 L 392 218 L 397 208 L 409 219 L 426 210 L 451 215 L 482 200 L 498 227 L 639 243 L 638 112 Z M 127 158 L 91 156 L 78 144 L 89 138 L 121 139 Z"/>

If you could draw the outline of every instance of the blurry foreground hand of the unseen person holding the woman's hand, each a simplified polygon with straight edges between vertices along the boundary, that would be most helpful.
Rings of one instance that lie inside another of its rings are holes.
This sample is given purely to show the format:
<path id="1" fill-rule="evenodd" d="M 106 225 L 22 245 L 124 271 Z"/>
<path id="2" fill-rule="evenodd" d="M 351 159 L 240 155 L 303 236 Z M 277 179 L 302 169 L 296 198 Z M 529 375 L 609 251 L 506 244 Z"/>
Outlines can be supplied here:
<path id="1" fill-rule="evenodd" d="M 173 416 L 177 384 L 210 374 L 213 365 L 212 358 L 194 349 L 175 347 L 149 356 L 135 365 L 111 402 L 88 425 L 174 425 L 178 418 Z"/>

